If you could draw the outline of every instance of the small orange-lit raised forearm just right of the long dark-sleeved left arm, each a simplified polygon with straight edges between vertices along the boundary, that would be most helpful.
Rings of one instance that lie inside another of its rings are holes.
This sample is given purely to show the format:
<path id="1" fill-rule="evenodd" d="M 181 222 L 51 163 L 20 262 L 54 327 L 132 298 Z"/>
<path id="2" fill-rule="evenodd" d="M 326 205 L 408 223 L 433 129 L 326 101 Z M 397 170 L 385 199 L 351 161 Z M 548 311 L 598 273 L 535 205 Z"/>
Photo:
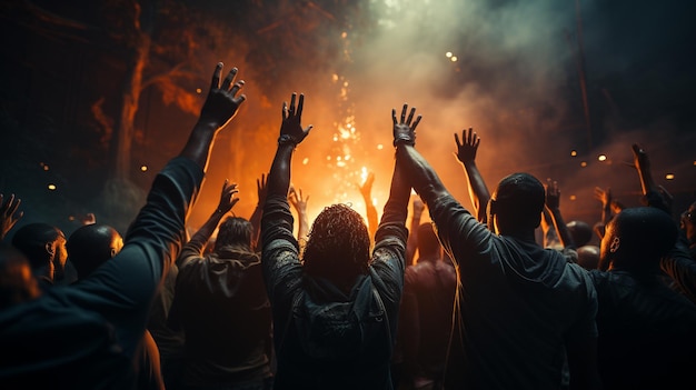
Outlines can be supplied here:
<path id="1" fill-rule="evenodd" d="M 218 202 L 218 207 L 212 211 L 210 218 L 203 223 L 203 226 L 198 229 L 198 231 L 191 237 L 189 242 L 183 246 L 181 253 L 177 258 L 177 268 L 181 269 L 186 266 L 188 259 L 191 257 L 199 257 L 202 254 L 203 249 L 206 248 L 206 243 L 210 240 L 212 232 L 220 224 L 220 220 L 225 214 L 227 214 L 239 201 L 239 198 L 236 198 L 239 190 L 237 189 L 237 183 L 228 183 L 228 180 L 225 179 L 225 183 L 222 184 L 222 193 L 220 194 L 220 201 Z"/>

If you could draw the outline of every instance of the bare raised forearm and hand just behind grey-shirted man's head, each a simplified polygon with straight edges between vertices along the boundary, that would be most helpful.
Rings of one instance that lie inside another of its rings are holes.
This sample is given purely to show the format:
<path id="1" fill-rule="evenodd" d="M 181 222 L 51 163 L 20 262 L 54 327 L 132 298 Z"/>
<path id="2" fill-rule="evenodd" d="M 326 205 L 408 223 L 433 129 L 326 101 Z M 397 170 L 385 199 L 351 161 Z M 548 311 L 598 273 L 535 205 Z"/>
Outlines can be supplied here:
<path id="1" fill-rule="evenodd" d="M 486 223 L 488 220 L 486 206 L 490 199 L 490 192 L 488 192 L 486 182 L 476 166 L 476 152 L 478 151 L 480 141 L 480 138 L 471 128 L 469 128 L 468 133 L 466 130 L 461 130 L 461 142 L 459 141 L 459 136 L 455 133 L 455 142 L 457 144 L 455 156 L 464 166 L 464 171 L 469 184 L 469 197 L 471 198 L 471 204 L 474 204 L 476 219 L 481 223 Z"/>

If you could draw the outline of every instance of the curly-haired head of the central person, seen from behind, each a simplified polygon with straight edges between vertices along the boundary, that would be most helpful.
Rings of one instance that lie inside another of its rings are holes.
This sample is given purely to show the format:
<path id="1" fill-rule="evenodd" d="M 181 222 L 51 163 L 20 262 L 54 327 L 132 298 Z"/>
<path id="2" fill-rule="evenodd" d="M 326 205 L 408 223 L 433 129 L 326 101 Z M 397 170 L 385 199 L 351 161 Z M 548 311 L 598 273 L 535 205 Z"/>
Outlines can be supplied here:
<path id="1" fill-rule="evenodd" d="M 370 237 L 362 217 L 346 204 L 332 204 L 315 219 L 305 247 L 305 272 L 349 289 L 370 261 Z"/>

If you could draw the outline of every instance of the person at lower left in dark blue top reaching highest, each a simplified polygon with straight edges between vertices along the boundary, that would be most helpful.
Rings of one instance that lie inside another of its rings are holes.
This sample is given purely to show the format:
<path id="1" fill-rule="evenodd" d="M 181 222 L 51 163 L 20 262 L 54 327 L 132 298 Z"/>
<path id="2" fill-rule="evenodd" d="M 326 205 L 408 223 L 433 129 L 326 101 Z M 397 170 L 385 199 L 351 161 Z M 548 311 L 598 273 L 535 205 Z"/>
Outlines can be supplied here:
<path id="1" fill-rule="evenodd" d="M 162 276 L 185 240 L 189 208 L 219 130 L 237 112 L 242 81 L 218 63 L 198 122 L 156 177 L 123 249 L 84 280 L 0 311 L 3 389 L 133 389 L 139 346 Z M 1 269 L 0 269 L 1 270 Z"/>

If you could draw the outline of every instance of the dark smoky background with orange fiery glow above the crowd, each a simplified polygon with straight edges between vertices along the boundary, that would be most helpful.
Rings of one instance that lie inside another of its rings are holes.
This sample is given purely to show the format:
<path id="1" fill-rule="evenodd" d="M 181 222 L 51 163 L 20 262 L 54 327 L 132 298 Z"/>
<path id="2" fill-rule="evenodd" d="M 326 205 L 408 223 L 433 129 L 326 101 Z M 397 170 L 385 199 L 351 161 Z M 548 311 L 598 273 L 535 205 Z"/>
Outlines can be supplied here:
<path id="1" fill-rule="evenodd" d="M 141 27 L 152 27 L 149 83 L 138 94 L 128 184 L 115 187 L 135 3 Z M 566 221 L 588 223 L 600 217 L 595 187 L 640 203 L 627 166 L 637 142 L 678 214 L 696 199 L 695 7 L 580 0 L 578 20 L 569 0 L 0 1 L 0 191 L 23 200 L 20 223 L 69 233 L 95 212 L 123 232 L 155 173 L 183 146 L 223 61 L 240 69 L 248 100 L 215 146 L 193 230 L 225 178 L 240 184 L 233 211 L 250 216 L 294 91 L 306 94 L 302 120 L 315 126 L 292 172 L 310 194 L 310 218 L 332 202 L 362 212 L 355 183 L 367 171 L 381 213 L 390 112 L 404 102 L 424 116 L 417 148 L 465 207 L 453 134 L 473 127 L 490 189 L 514 171 L 553 178 Z"/>

